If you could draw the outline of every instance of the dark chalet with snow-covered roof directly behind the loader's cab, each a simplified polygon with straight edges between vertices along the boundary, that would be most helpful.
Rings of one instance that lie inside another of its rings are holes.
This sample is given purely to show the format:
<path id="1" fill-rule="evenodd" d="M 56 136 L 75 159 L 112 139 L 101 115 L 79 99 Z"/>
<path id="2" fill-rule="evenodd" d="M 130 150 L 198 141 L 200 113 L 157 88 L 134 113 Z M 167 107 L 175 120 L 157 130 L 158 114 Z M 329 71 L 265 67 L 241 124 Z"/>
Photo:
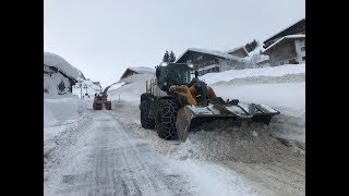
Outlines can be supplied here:
<path id="1" fill-rule="evenodd" d="M 193 63 L 198 75 L 227 70 L 245 69 L 250 62 L 227 52 L 217 50 L 204 50 L 189 48 L 176 61 L 176 63 Z"/>

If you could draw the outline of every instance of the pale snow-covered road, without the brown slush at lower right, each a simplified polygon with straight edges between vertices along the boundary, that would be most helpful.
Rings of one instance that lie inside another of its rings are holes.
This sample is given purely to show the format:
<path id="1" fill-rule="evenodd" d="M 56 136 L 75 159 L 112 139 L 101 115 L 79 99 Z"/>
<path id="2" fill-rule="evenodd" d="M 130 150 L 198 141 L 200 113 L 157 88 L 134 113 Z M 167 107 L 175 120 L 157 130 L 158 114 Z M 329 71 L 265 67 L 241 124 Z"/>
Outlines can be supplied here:
<path id="1" fill-rule="evenodd" d="M 51 156 L 60 156 L 60 161 L 47 169 L 45 195 L 263 193 L 222 167 L 159 154 L 149 140 L 125 130 L 108 111 L 92 113 L 89 122 L 83 122 L 85 126 L 72 131 L 79 133 L 72 138 L 73 145 L 52 152 Z"/>

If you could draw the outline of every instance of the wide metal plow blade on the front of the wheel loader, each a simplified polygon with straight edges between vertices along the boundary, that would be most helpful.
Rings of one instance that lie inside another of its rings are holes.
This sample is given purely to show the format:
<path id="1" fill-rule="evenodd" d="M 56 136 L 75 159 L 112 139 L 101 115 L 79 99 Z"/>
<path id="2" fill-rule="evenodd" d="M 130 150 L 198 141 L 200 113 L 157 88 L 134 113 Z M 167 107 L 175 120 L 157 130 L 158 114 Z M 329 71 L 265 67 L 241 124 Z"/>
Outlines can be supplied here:
<path id="1" fill-rule="evenodd" d="M 273 115 L 279 113 L 267 106 L 254 103 L 184 106 L 177 114 L 178 138 L 184 143 L 191 127 L 214 120 L 232 120 L 231 126 L 240 126 L 242 122 L 260 122 L 269 125 Z"/>

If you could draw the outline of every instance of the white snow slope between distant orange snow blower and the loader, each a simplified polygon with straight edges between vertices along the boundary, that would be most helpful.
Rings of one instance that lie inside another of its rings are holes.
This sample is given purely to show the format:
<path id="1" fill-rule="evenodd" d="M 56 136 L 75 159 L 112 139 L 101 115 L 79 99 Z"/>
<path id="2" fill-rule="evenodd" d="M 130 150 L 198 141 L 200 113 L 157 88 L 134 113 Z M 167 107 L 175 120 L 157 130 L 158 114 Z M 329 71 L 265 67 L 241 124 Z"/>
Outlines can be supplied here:
<path id="1" fill-rule="evenodd" d="M 122 105 L 139 106 L 141 95 L 145 93 L 145 83 L 154 78 L 153 74 L 135 74 L 130 77 L 123 78 L 119 82 L 120 87 L 110 88 L 108 90 L 108 99 L 115 105 L 120 102 Z M 121 86 L 122 85 L 122 86 Z"/>

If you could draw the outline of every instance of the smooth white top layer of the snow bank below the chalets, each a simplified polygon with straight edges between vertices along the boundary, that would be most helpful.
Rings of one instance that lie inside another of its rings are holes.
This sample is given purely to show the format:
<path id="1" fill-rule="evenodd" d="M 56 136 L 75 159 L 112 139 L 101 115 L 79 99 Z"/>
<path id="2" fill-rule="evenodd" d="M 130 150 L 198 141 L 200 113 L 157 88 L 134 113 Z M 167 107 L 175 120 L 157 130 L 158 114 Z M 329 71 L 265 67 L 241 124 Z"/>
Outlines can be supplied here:
<path id="1" fill-rule="evenodd" d="M 198 78 L 207 84 L 214 84 L 221 81 L 228 82 L 233 78 L 243 78 L 251 76 L 282 76 L 286 74 L 299 73 L 305 73 L 305 64 L 287 64 L 273 68 L 229 70 L 219 73 L 208 73 L 200 76 Z"/>

